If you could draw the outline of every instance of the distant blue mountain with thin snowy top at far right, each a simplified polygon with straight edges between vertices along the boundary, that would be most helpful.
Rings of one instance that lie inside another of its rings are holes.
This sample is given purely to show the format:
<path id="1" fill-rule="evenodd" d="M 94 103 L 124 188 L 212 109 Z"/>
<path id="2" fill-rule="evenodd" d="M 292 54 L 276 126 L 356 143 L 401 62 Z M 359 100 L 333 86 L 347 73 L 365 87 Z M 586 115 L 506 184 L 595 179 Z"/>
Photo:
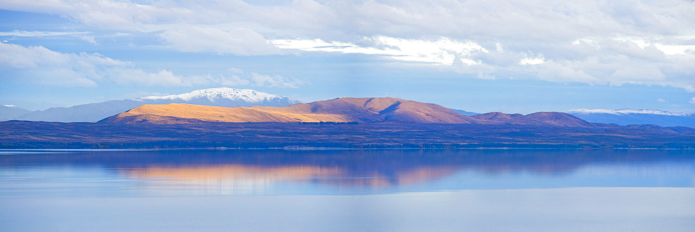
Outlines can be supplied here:
<path id="1" fill-rule="evenodd" d="M 663 110 L 643 109 L 576 109 L 566 113 L 584 119 L 587 122 L 629 124 L 654 124 L 659 126 L 688 126 L 695 128 L 695 113 L 671 113 Z"/>

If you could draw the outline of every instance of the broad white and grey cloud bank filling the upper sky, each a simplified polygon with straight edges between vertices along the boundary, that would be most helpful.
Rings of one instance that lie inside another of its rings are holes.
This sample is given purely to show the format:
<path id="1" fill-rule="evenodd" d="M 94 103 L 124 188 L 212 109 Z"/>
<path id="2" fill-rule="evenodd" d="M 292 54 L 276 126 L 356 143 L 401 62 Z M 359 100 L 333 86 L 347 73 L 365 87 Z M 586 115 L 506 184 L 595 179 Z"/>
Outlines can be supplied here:
<path id="1" fill-rule="evenodd" d="M 363 53 L 403 65 L 450 65 L 442 70 L 478 78 L 695 92 L 693 1 L 51 0 L 0 8 L 63 15 L 100 30 L 154 32 L 168 49 L 185 52 Z"/>

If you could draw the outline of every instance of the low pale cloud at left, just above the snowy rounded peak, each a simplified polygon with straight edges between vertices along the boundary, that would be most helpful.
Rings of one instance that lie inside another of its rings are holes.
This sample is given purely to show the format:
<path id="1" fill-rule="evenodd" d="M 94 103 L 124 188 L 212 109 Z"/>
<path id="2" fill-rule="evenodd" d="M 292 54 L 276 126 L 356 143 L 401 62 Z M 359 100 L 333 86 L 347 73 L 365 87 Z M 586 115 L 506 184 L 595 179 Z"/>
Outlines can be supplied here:
<path id="1" fill-rule="evenodd" d="M 0 71 L 21 76 L 17 81 L 41 85 L 95 87 L 99 84 L 145 86 L 252 85 L 297 88 L 304 81 L 283 76 L 245 74 L 230 69 L 233 75 L 183 76 L 161 69 L 147 72 L 132 63 L 115 60 L 98 53 L 60 53 L 45 47 L 24 47 L 0 42 Z"/>

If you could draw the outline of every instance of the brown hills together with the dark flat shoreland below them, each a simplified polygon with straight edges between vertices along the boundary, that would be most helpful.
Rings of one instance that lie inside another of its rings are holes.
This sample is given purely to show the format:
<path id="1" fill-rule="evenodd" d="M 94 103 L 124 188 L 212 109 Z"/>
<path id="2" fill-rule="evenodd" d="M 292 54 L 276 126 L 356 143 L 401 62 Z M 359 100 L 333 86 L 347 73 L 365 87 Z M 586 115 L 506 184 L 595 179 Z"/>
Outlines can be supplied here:
<path id="1" fill-rule="evenodd" d="M 0 122 L 0 148 L 669 148 L 685 126 L 600 124 L 566 113 L 460 115 L 391 97 L 291 106 L 143 105 L 90 122 Z"/>

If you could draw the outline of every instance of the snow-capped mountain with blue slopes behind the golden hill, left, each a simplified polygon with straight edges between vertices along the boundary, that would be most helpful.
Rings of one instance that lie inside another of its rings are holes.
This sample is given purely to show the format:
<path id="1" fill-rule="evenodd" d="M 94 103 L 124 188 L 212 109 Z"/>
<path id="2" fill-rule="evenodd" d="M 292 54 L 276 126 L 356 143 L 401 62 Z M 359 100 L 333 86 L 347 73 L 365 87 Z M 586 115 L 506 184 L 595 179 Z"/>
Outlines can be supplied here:
<path id="1" fill-rule="evenodd" d="M 147 104 L 186 103 L 204 106 L 290 106 L 300 103 L 295 99 L 281 97 L 256 90 L 234 88 L 211 88 L 195 90 L 185 94 L 140 97 L 137 99 L 112 100 L 88 103 L 71 107 L 56 107 L 37 110 L 14 117 L 18 120 L 46 122 L 97 122 L 105 117 L 123 113 L 131 108 Z"/>

